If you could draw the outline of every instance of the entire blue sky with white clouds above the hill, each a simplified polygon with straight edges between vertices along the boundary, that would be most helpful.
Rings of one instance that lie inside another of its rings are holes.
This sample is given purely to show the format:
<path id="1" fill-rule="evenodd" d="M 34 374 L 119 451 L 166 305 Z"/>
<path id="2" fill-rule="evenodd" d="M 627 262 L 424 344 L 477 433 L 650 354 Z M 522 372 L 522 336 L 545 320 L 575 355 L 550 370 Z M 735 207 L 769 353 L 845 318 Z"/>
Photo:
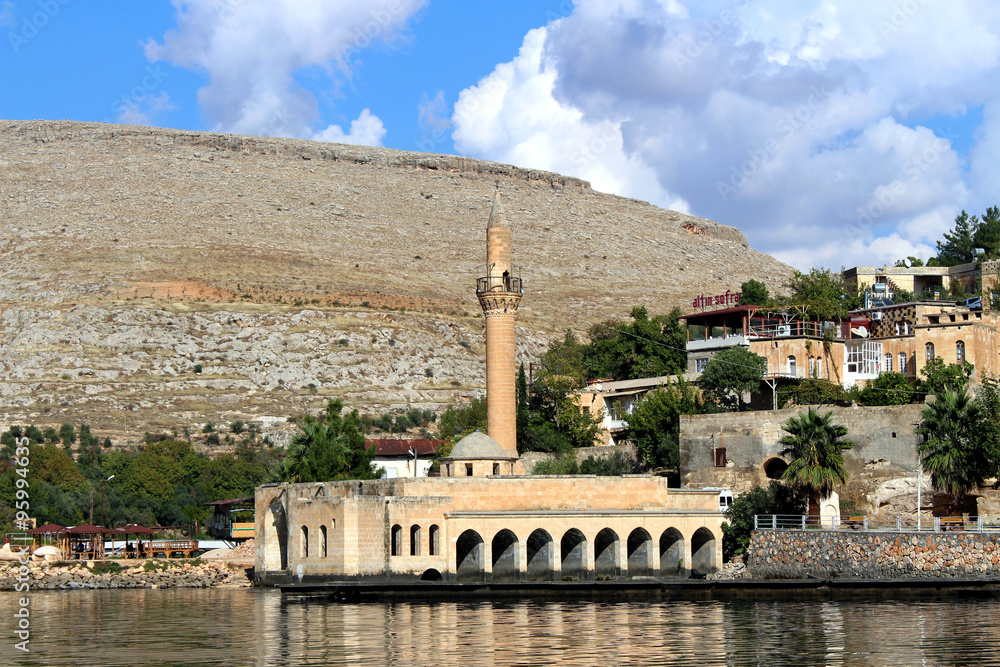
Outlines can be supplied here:
<path id="1" fill-rule="evenodd" d="M 0 0 L 0 118 L 546 169 L 801 270 L 1000 203 L 998 61 L 996 0 Z"/>

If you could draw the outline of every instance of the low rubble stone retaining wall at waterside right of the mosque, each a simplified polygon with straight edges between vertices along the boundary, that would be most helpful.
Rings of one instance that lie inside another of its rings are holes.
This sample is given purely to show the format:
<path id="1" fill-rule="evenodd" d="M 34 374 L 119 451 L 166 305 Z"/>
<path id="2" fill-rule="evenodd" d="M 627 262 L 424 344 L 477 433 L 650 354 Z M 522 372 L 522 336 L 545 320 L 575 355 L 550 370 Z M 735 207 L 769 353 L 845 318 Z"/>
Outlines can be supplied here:
<path id="1" fill-rule="evenodd" d="M 759 579 L 969 577 L 1000 572 L 1000 534 L 754 531 L 747 569 Z"/>

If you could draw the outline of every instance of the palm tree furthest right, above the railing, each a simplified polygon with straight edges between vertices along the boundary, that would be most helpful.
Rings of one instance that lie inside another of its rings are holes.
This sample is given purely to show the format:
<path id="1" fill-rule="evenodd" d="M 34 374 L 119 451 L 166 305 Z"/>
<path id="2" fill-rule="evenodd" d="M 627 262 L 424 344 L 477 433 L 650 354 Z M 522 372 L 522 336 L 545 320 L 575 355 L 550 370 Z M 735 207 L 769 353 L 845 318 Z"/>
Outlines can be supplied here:
<path id="1" fill-rule="evenodd" d="M 981 487 L 990 471 L 988 437 L 979 428 L 982 410 L 965 390 L 945 387 L 934 394 L 934 402 L 920 412 L 917 433 L 924 441 L 917 448 L 931 484 L 952 496 L 952 507 L 969 492 Z"/>

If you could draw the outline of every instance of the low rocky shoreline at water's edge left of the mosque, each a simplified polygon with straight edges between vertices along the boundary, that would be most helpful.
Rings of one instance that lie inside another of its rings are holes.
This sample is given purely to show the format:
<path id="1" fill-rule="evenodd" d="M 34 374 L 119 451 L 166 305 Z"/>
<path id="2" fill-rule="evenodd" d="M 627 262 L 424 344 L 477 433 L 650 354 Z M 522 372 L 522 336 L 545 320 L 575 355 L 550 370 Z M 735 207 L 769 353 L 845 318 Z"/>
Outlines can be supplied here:
<path id="1" fill-rule="evenodd" d="M 0 591 L 15 590 L 19 567 L 17 563 L 0 563 Z M 28 567 L 30 590 L 249 588 L 253 582 L 253 568 L 232 561 L 150 559 L 126 565 L 115 561 L 32 562 Z"/>

